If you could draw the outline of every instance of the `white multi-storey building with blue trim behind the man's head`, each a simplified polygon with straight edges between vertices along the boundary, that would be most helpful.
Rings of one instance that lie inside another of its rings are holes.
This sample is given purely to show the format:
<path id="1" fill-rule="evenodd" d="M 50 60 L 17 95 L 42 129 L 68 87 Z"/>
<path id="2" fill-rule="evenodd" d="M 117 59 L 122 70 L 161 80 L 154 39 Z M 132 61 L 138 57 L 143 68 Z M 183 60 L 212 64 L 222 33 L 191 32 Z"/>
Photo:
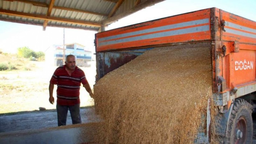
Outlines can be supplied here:
<path id="1" fill-rule="evenodd" d="M 65 44 L 65 57 L 69 54 L 76 56 L 76 65 L 88 67 L 91 65 L 92 53 L 91 51 L 84 50 L 85 46 L 72 43 Z M 45 51 L 45 61 L 52 66 L 63 65 L 63 45 L 52 45 Z"/>

